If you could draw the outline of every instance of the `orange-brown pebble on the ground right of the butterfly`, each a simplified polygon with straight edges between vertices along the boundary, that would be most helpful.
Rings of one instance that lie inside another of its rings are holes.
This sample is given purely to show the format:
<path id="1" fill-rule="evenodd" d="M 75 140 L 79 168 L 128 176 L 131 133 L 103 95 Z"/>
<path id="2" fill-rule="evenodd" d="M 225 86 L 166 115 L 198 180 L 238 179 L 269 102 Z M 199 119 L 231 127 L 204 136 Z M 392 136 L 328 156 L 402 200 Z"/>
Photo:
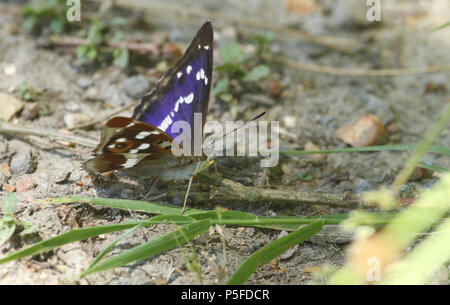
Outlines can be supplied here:
<path id="1" fill-rule="evenodd" d="M 355 123 L 340 127 L 335 135 L 353 147 L 383 144 L 388 138 L 383 124 L 373 114 L 362 115 Z"/>

